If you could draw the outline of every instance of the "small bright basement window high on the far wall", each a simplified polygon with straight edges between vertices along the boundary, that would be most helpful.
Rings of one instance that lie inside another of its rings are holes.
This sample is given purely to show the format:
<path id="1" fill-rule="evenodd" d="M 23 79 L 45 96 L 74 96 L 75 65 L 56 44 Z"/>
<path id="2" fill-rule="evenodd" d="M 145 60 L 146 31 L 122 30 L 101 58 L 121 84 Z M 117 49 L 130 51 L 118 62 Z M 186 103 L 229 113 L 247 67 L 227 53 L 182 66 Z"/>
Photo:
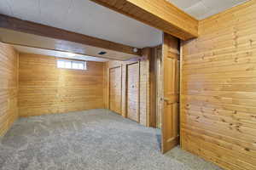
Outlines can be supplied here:
<path id="1" fill-rule="evenodd" d="M 87 70 L 85 61 L 58 59 L 57 67 L 61 69 Z"/>

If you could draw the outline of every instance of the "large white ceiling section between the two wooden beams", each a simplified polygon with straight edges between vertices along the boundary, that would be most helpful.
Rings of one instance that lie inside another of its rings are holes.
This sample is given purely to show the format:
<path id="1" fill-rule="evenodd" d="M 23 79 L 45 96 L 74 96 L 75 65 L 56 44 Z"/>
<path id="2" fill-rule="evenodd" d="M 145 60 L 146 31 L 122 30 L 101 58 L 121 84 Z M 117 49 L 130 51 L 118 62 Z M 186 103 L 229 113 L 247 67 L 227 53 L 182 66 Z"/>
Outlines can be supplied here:
<path id="1" fill-rule="evenodd" d="M 135 48 L 161 43 L 161 31 L 90 0 L 0 0 L 0 14 Z"/>

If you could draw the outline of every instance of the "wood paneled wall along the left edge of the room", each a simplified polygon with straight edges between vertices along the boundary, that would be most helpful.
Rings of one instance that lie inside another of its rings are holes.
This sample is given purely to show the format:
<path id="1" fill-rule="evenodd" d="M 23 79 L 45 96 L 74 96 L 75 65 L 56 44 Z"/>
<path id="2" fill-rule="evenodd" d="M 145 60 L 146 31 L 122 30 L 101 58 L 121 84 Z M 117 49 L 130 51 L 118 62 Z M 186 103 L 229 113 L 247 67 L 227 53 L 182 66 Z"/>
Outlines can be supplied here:
<path id="1" fill-rule="evenodd" d="M 0 136 L 18 117 L 18 59 L 14 48 L 0 42 Z"/>

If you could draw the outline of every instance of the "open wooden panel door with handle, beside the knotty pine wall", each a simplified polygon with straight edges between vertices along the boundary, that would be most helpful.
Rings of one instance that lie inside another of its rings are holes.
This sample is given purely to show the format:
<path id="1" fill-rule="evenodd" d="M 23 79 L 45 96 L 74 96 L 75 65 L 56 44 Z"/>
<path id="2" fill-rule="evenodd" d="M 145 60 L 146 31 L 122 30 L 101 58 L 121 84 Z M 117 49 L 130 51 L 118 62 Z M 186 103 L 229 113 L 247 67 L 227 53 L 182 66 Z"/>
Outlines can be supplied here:
<path id="1" fill-rule="evenodd" d="M 162 50 L 164 87 L 161 150 L 165 153 L 179 141 L 179 44 L 177 38 L 164 34 Z"/>

